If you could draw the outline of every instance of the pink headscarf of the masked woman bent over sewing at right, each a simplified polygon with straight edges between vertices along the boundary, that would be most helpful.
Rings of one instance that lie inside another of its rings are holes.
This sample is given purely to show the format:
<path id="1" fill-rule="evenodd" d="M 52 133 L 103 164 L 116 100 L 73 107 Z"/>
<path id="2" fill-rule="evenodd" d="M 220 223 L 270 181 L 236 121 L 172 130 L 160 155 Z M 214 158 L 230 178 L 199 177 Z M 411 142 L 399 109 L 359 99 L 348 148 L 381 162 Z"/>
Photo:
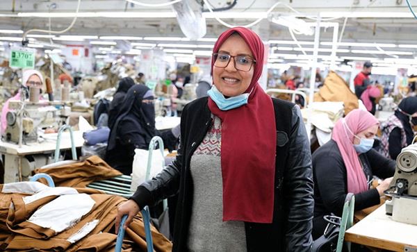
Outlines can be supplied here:
<path id="1" fill-rule="evenodd" d="M 346 167 L 347 192 L 357 194 L 368 190 L 353 139 L 357 133 L 378 124 L 379 121 L 370 112 L 356 109 L 350 111 L 345 118 L 339 119 L 333 128 L 332 139 L 337 143 Z"/>

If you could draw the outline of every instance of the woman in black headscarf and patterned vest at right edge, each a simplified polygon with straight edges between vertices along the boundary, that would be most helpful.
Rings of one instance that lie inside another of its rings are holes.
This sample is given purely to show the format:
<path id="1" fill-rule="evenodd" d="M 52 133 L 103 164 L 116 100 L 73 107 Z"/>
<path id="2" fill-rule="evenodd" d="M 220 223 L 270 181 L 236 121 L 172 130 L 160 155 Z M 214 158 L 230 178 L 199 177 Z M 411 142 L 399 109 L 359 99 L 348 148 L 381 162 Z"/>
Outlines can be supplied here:
<path id="1" fill-rule="evenodd" d="M 401 149 L 413 141 L 413 126 L 417 125 L 417 97 L 410 96 L 402 99 L 391 115 L 380 128 L 382 131 L 379 153 L 386 158 L 397 159 Z"/>

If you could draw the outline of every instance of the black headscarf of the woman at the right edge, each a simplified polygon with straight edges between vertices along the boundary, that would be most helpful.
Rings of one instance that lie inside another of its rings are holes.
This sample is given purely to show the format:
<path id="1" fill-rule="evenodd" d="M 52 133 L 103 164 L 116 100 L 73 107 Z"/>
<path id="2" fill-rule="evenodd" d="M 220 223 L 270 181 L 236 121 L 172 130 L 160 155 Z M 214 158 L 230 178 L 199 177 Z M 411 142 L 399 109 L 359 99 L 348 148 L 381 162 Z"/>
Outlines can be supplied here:
<path id="1" fill-rule="evenodd" d="M 411 144 L 414 133 L 410 124 L 410 116 L 417 112 L 417 97 L 410 96 L 402 99 L 398 105 L 400 110 L 395 110 L 395 116 L 400 119 L 402 126 L 404 127 L 405 135 L 407 137 L 407 144 Z M 405 115 L 407 113 L 408 115 Z"/>

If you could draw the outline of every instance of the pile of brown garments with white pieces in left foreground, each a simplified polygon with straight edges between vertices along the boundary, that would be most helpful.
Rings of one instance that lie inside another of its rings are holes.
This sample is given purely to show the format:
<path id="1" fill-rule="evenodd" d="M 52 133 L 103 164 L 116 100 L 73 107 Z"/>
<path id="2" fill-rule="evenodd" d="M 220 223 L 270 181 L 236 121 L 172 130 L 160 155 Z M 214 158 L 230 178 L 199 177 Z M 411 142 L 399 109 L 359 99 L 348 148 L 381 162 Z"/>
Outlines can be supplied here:
<path id="1" fill-rule="evenodd" d="M 39 182 L 0 185 L 1 251 L 114 251 L 120 196 Z M 152 227 L 155 251 L 172 244 Z M 124 251 L 146 251 L 140 214 L 126 229 Z"/>

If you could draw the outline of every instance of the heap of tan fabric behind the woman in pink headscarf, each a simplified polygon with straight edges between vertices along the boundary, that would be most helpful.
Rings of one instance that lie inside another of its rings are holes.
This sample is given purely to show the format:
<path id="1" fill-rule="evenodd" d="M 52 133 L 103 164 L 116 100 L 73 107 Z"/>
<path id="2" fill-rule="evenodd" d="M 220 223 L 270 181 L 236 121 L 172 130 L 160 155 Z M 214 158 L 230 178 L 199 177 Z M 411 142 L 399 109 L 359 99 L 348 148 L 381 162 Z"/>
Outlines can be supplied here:
<path id="1" fill-rule="evenodd" d="M 333 71 L 329 72 L 324 85 L 314 94 L 314 101 L 343 101 L 345 115 L 355 108 L 359 108 L 356 94 L 350 90 L 345 80 Z"/>

